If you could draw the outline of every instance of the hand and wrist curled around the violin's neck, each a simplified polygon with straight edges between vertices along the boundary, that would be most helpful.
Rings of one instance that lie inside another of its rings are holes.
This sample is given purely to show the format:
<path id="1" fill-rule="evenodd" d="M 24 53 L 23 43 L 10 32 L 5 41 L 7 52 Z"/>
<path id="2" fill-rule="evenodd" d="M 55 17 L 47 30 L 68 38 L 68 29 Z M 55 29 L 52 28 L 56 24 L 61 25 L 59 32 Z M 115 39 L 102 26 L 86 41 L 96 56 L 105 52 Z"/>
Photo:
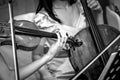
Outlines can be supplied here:
<path id="1" fill-rule="evenodd" d="M 50 47 L 47 55 L 50 56 L 50 58 L 52 59 L 61 49 L 63 49 L 63 47 L 66 44 L 67 41 L 67 35 L 63 34 L 62 32 L 57 32 L 57 42 L 55 44 L 52 44 L 52 46 Z"/>

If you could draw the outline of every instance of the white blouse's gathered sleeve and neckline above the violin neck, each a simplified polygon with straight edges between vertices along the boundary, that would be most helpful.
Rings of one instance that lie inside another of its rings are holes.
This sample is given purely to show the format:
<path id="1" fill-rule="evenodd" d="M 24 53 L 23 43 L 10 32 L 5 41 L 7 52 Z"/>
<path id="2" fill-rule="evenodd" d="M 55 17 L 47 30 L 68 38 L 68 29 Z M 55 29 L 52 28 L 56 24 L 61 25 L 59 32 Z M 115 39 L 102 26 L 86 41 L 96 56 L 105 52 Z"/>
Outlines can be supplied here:
<path id="1" fill-rule="evenodd" d="M 73 22 L 74 27 L 56 22 L 46 12 L 38 13 L 34 18 L 34 22 L 40 30 L 45 30 L 47 32 L 55 32 L 56 30 L 62 30 L 65 33 L 67 32 L 70 36 L 74 36 L 86 27 L 86 21 L 85 16 L 83 15 L 82 7 L 80 4 L 77 3 L 75 7 L 78 6 L 80 6 L 79 9 L 81 9 L 81 12 L 79 14 L 79 18 L 76 18 Z"/>

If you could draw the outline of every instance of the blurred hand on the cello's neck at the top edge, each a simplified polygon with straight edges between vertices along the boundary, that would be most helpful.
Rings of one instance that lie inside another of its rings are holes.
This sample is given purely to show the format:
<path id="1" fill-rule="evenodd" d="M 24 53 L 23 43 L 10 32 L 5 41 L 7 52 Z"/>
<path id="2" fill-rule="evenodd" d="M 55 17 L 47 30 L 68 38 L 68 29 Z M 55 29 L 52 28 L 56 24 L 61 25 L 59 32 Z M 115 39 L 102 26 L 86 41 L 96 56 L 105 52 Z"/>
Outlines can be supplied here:
<path id="1" fill-rule="evenodd" d="M 98 0 L 87 0 L 88 6 L 93 10 L 97 12 L 103 12 L 102 7 Z"/>

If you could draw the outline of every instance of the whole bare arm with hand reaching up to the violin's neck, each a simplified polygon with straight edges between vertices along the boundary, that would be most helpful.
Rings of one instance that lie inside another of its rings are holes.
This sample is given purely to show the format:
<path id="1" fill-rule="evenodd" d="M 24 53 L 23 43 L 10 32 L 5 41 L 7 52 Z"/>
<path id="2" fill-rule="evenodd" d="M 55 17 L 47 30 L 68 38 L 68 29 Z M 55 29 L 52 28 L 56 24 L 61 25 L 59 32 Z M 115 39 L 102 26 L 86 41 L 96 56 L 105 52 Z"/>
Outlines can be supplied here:
<path id="1" fill-rule="evenodd" d="M 67 37 L 64 37 L 64 36 L 60 37 L 60 35 L 58 35 L 57 42 L 50 47 L 46 55 L 44 55 L 42 58 L 20 69 L 21 80 L 27 78 L 28 76 L 33 74 L 35 71 L 40 69 L 44 64 L 52 60 L 52 58 L 56 55 L 56 53 L 62 49 L 62 46 L 65 45 L 66 40 L 67 40 Z"/>

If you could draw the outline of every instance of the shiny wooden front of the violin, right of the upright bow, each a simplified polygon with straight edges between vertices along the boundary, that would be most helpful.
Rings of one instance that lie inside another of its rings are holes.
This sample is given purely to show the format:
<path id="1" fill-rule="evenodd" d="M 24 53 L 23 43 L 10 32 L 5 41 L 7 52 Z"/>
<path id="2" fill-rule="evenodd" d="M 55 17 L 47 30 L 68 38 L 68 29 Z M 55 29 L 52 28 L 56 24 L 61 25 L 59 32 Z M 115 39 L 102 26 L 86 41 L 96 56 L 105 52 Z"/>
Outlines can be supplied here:
<path id="1" fill-rule="evenodd" d="M 16 26 L 22 28 L 28 28 L 32 30 L 38 30 L 38 27 L 33 23 L 25 20 L 16 21 L 14 23 Z M 16 35 L 16 39 L 20 41 L 20 45 L 24 45 L 27 47 L 33 47 L 39 44 L 40 38 L 26 35 Z"/>

